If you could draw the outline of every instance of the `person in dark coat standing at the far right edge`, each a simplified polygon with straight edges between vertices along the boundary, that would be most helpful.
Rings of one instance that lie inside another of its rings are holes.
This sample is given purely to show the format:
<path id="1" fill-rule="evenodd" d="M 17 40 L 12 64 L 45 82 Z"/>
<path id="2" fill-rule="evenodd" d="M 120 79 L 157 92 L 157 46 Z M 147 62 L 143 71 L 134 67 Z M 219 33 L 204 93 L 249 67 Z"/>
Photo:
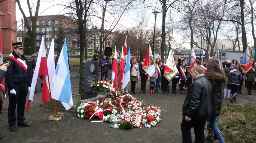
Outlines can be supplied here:
<path id="1" fill-rule="evenodd" d="M 252 68 L 246 73 L 245 79 L 247 80 L 247 91 L 249 95 L 252 95 L 252 84 L 255 81 L 255 66 L 254 60 L 251 60 Z"/>

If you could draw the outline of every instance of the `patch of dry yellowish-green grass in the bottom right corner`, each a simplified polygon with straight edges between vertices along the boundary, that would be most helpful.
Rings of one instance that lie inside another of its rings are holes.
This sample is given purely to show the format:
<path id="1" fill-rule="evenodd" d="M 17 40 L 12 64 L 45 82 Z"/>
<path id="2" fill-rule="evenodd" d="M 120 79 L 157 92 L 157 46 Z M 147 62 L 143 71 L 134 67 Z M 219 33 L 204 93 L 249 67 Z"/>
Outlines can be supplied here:
<path id="1" fill-rule="evenodd" d="M 226 142 L 256 142 L 256 104 L 222 105 L 217 126 Z"/>

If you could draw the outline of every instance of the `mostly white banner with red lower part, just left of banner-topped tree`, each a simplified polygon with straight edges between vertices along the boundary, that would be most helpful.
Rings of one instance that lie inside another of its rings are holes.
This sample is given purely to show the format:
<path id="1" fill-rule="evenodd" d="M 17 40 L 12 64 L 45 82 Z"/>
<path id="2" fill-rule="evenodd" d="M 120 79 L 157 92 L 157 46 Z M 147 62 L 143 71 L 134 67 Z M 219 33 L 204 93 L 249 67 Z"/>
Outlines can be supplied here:
<path id="1" fill-rule="evenodd" d="M 177 70 L 171 49 L 164 67 L 163 76 L 170 82 L 176 75 Z"/>

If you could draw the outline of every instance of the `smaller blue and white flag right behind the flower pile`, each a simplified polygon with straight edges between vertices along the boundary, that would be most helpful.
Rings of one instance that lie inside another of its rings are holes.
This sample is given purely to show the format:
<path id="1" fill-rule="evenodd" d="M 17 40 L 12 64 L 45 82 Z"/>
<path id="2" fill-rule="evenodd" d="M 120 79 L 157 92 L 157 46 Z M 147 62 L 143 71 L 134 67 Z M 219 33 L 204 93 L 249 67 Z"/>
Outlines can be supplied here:
<path id="1" fill-rule="evenodd" d="M 129 47 L 129 51 L 128 51 L 128 55 L 127 55 L 128 62 L 126 62 L 126 64 L 125 64 L 122 89 L 124 89 L 126 87 L 126 85 L 128 84 L 128 82 L 131 80 L 130 49 L 131 48 Z"/>

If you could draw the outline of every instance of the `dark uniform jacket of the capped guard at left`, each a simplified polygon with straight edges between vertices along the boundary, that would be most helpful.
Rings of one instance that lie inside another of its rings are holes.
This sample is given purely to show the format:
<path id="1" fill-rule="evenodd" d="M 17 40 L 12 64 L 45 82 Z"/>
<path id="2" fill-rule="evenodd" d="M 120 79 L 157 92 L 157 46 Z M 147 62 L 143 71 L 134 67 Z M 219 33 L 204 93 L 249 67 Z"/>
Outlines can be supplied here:
<path id="1" fill-rule="evenodd" d="M 12 52 L 14 58 L 20 58 L 15 51 Z M 28 84 L 28 86 L 31 86 L 31 80 L 32 80 L 32 75 L 31 75 L 31 67 L 29 65 L 28 59 L 22 55 L 21 58 L 26 62 L 27 65 L 27 72 L 26 70 L 21 67 L 14 59 L 11 58 L 6 58 L 5 63 L 8 61 L 8 68 L 6 71 L 6 81 L 8 85 L 8 90 L 13 90 L 14 89 L 14 84 Z"/>

